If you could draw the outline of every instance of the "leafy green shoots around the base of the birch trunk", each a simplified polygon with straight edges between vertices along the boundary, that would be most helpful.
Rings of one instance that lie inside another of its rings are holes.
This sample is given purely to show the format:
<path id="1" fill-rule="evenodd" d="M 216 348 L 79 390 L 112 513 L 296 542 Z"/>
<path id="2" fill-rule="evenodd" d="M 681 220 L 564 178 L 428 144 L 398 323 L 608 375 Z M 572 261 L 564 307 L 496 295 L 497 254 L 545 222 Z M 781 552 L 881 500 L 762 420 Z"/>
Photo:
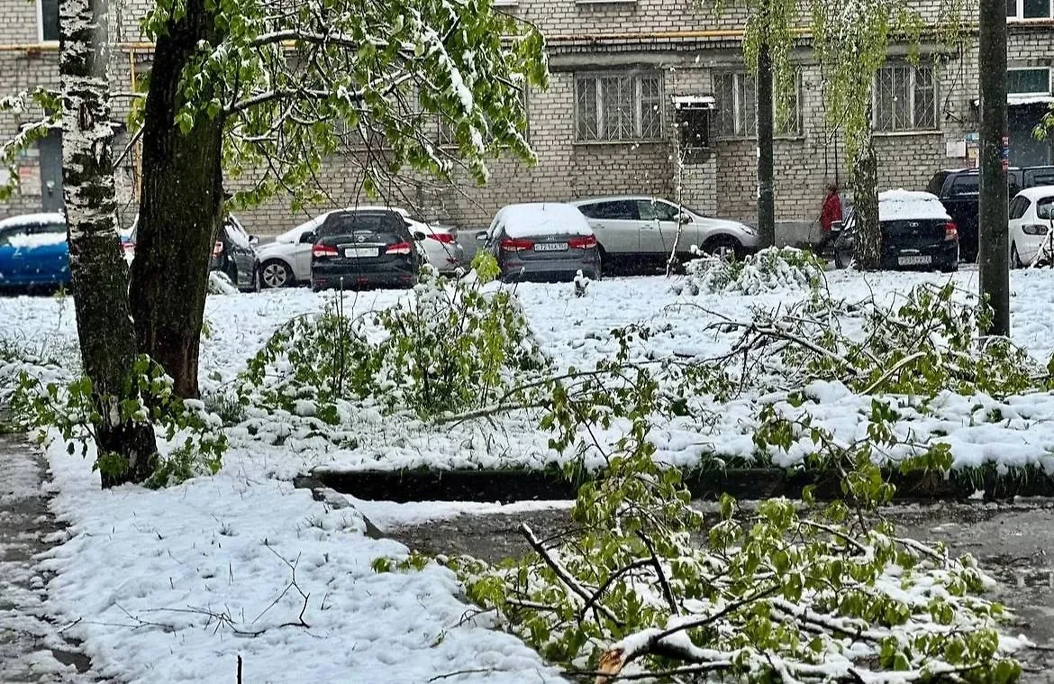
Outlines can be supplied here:
<path id="1" fill-rule="evenodd" d="M 201 402 L 177 396 L 172 378 L 145 355 L 136 359 L 133 376 L 136 387 L 122 394 L 130 398 L 119 400 L 96 393 L 87 376 L 69 383 L 45 382 L 23 371 L 12 395 L 12 409 L 20 427 L 37 430 L 41 442 L 48 438 L 50 429 L 56 429 L 66 451 L 81 456 L 87 455 L 91 446 L 98 447 L 99 428 L 103 425 L 151 423 L 169 442 L 179 437 L 181 443 L 172 455 L 158 461 L 160 470 L 152 478 L 152 486 L 215 473 L 228 447 L 219 418 Z M 100 450 L 93 468 L 104 474 L 119 474 L 128 468 L 128 461 Z"/>

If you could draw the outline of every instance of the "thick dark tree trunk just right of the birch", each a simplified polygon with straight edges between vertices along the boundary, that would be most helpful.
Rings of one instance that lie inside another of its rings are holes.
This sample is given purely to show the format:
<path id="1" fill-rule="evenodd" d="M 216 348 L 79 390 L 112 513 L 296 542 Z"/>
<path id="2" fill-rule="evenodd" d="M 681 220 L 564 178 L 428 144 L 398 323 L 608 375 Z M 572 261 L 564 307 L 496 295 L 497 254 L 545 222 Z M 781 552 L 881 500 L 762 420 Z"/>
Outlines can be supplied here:
<path id="1" fill-rule="evenodd" d="M 139 349 L 164 368 L 182 397 L 198 395 L 209 261 L 222 215 L 223 122 L 200 115 L 184 135 L 175 118 L 184 102 L 183 67 L 215 33 L 206 0 L 188 0 L 186 15 L 157 39 L 143 120 L 132 312 Z"/>

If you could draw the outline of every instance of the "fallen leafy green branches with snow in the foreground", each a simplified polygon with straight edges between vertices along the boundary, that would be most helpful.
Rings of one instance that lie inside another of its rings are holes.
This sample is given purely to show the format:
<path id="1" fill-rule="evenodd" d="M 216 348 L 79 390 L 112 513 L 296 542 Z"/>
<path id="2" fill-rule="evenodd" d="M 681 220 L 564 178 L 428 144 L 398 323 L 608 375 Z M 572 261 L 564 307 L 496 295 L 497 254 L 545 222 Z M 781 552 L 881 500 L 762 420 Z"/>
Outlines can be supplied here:
<path id="1" fill-rule="evenodd" d="M 695 663 L 750 682 L 801 681 L 820 666 L 876 682 L 1019 677 L 1006 610 L 980 595 L 991 581 L 970 556 L 871 527 L 841 502 L 812 506 L 807 491 L 804 510 L 724 496 L 717 520 L 704 517 L 679 472 L 655 464 L 646 432 L 635 424 L 600 481 L 580 488 L 571 531 L 542 542 L 524 526 L 528 558 L 451 563 L 469 598 L 548 660 L 571 671 Z M 860 465 L 846 493 L 871 509 L 891 492 L 870 458 Z"/>

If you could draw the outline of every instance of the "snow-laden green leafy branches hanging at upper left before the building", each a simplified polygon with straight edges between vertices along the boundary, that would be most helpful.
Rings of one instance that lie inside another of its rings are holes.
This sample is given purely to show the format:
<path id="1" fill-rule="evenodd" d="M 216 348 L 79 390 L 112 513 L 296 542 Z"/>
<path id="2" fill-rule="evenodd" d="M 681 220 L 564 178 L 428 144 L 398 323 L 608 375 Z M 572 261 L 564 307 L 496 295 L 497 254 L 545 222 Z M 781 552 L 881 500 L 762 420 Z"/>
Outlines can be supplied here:
<path id="1" fill-rule="evenodd" d="M 186 0 L 159 0 L 144 35 L 172 33 L 187 11 Z M 337 151 L 369 149 L 368 195 L 403 170 L 451 174 L 453 158 L 435 144 L 440 120 L 477 182 L 503 151 L 534 159 L 520 96 L 547 85 L 544 39 L 491 0 L 307 0 L 292 12 L 221 0 L 207 15 L 213 30 L 184 69 L 173 123 L 191 135 L 225 121 L 227 177 L 255 180 L 232 207 L 286 190 L 297 207 L 321 199 L 315 179 Z"/>

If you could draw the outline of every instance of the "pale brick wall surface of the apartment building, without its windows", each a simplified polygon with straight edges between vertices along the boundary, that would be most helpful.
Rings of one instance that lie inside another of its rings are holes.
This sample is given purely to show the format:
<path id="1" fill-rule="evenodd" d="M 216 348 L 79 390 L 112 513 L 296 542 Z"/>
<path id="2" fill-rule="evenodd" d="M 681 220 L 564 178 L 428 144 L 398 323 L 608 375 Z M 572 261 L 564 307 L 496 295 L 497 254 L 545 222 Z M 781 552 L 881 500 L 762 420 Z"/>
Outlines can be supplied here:
<path id="1" fill-rule="evenodd" d="M 143 40 L 138 18 L 150 0 L 112 0 L 120 9 L 114 24 L 115 39 L 128 43 Z M 53 50 L 26 50 L 21 43 L 37 40 L 36 5 L 21 0 L 8 3 L 0 15 L 0 96 L 38 84 L 54 84 L 57 56 Z M 530 139 L 538 164 L 512 159 L 491 164 L 491 181 L 476 188 L 465 181 L 457 190 L 433 179 L 412 178 L 397 189 L 401 203 L 421 204 L 429 217 L 465 227 L 485 226 L 503 204 L 531 200 L 559 200 L 588 195 L 651 193 L 676 197 L 678 185 L 685 203 L 704 212 L 754 220 L 756 215 L 756 141 L 721 139 L 698 163 L 676 177 L 672 137 L 661 142 L 581 143 L 574 140 L 573 74 L 597 69 L 653 69 L 663 73 L 664 130 L 672 131 L 674 94 L 707 94 L 716 70 L 741 65 L 736 32 L 743 25 L 743 8 L 728 3 L 725 14 L 715 17 L 692 0 L 638 0 L 602 4 L 575 0 L 521 0 L 506 9 L 532 21 L 547 35 L 552 66 L 551 86 L 531 93 L 528 100 Z M 925 12 L 938 11 L 938 0 L 918 3 Z M 691 33 L 694 32 L 694 33 Z M 16 48 L 17 47 L 17 48 Z M 115 51 L 115 90 L 126 90 L 130 76 L 129 50 Z M 1013 25 L 1008 57 L 1011 66 L 1049 66 L 1054 62 L 1054 23 Z M 977 52 L 969 44 L 964 53 L 951 55 L 939 69 L 939 130 L 935 132 L 877 135 L 881 183 L 884 188 L 922 189 L 933 172 L 963 165 L 945 156 L 945 143 L 961 140 L 976 131 Z M 801 61 L 801 134 L 776 142 L 777 216 L 781 220 L 814 220 L 819 212 L 823 187 L 846 181 L 843 144 L 824 124 L 821 74 L 807 47 L 796 51 Z M 149 55 L 136 58 L 137 72 L 144 70 Z M 115 117 L 126 114 L 126 101 L 115 102 Z M 8 136 L 18 121 L 0 115 L 0 135 Z M 118 141 L 118 152 L 123 142 Z M 33 165 L 30 156 L 25 163 Z M 131 159 L 122 174 L 131 182 Z M 340 158 L 331 159 L 323 174 L 326 190 L 337 203 L 365 201 L 353 176 Z M 233 183 L 232 183 L 233 184 Z M 39 191 L 0 207 L 0 216 L 31 211 L 39 204 Z M 131 189 L 123 195 L 131 198 Z M 128 213 L 134 214 L 134 203 Z M 258 233 L 285 230 L 304 216 L 292 216 L 284 201 L 242 216 Z"/>

